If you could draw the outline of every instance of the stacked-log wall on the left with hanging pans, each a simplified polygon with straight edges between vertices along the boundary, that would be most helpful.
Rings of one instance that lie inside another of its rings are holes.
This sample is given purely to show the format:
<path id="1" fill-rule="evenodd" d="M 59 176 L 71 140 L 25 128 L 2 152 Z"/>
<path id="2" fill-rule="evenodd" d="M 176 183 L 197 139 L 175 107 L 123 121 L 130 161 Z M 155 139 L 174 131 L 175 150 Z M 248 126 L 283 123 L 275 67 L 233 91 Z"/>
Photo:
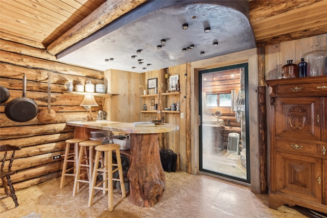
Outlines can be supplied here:
<path id="1" fill-rule="evenodd" d="M 22 149 L 16 152 L 12 181 L 16 190 L 60 177 L 62 159 L 52 160 L 53 155 L 64 154 L 65 140 L 74 137 L 74 127 L 66 122 L 82 120 L 86 110 L 79 106 L 83 95 L 65 93 L 66 82 L 85 84 L 104 83 L 102 71 L 86 69 L 57 62 L 54 56 L 44 50 L 0 39 L 0 85 L 9 89 L 10 99 L 0 105 L 0 144 L 12 144 Z M 51 109 L 56 119 L 51 124 L 42 124 L 37 116 L 28 122 L 14 122 L 7 118 L 5 106 L 22 96 L 22 77 L 27 75 L 27 98 L 33 99 L 39 110 L 48 105 L 48 73 L 51 74 Z M 96 96 L 102 109 L 104 99 Z M 3 157 L 0 157 L 1 159 Z M 2 183 L 0 183 L 2 186 Z M 3 188 L 0 193 L 3 193 Z"/>

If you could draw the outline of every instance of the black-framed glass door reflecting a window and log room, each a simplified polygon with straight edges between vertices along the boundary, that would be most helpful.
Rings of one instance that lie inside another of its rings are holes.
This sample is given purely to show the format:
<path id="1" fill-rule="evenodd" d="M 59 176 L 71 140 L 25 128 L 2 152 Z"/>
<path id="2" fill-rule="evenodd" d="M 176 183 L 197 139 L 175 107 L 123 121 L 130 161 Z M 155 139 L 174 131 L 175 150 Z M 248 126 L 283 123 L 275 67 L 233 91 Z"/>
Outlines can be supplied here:
<path id="1" fill-rule="evenodd" d="M 199 71 L 200 171 L 250 183 L 248 64 Z"/>

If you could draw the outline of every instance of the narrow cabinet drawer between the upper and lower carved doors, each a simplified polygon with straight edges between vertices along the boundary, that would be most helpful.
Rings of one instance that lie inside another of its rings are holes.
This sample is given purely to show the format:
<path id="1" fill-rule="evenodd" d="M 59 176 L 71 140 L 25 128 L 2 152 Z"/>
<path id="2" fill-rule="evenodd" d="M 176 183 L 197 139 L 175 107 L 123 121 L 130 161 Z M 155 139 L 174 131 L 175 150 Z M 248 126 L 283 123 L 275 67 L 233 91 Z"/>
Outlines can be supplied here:
<path id="1" fill-rule="evenodd" d="M 276 140 L 276 151 L 295 155 L 316 156 L 319 157 L 319 144 L 307 142 L 295 142 L 287 140 Z"/>

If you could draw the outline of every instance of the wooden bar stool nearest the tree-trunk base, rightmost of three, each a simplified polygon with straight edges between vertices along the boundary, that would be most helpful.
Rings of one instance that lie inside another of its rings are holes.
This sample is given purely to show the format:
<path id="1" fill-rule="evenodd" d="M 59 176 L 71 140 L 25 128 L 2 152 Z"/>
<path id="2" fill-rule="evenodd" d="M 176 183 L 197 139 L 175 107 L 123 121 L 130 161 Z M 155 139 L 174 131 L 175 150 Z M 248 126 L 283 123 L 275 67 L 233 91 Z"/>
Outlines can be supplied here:
<path id="1" fill-rule="evenodd" d="M 94 197 L 94 189 L 100 189 L 104 191 L 108 191 L 108 210 L 112 211 L 112 195 L 113 195 L 113 187 L 112 187 L 112 181 L 120 181 L 121 184 L 121 190 L 122 190 L 122 196 L 126 197 L 126 190 L 125 190 L 125 184 L 124 184 L 124 178 L 123 178 L 123 168 L 122 168 L 122 161 L 121 161 L 121 155 L 120 155 L 120 145 L 119 144 L 101 144 L 101 146 L 96 147 L 96 159 L 95 161 L 99 161 L 100 154 L 104 152 L 104 166 L 103 167 L 94 167 L 93 173 L 92 173 L 92 181 L 91 181 L 91 189 L 89 193 L 88 198 L 88 206 L 92 206 L 93 203 L 93 197 Z M 117 163 L 112 163 L 112 151 L 116 152 L 117 156 Z M 113 169 L 113 166 L 116 166 Z M 112 178 L 112 174 L 114 172 L 119 172 L 119 179 Z M 97 173 L 102 172 L 103 173 L 103 180 L 96 185 L 97 180 Z M 107 182 L 108 181 L 108 182 Z M 103 187 L 100 187 L 100 185 L 103 184 Z"/>

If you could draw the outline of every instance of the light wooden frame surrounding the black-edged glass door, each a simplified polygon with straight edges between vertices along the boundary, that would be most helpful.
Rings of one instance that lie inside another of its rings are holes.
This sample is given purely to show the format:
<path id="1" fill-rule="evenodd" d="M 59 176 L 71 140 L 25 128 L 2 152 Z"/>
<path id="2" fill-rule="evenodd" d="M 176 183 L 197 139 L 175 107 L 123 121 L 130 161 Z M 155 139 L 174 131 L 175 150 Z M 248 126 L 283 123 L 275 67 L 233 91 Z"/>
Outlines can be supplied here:
<path id="1" fill-rule="evenodd" d="M 259 120 L 258 120 L 258 54 L 257 49 L 250 49 L 242 52 L 218 56 L 191 63 L 191 169 L 192 174 L 199 173 L 199 126 L 198 126 L 198 71 L 217 68 L 221 66 L 234 65 L 240 63 L 249 64 L 249 140 L 250 140 L 250 167 L 251 167 L 251 191 L 261 193 L 260 163 L 259 152 Z"/>

